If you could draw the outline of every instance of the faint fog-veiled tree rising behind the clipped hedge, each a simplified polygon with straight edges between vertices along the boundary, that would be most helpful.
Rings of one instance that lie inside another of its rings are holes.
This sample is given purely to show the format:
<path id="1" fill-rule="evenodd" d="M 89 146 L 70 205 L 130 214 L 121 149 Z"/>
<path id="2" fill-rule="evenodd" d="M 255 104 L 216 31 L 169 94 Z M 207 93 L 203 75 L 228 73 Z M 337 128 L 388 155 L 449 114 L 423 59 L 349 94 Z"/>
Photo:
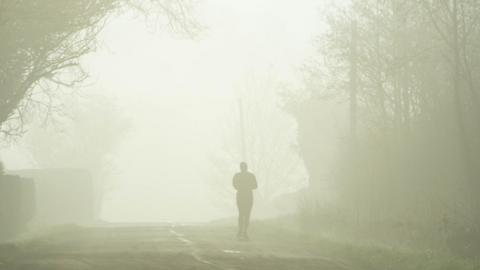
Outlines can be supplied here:
<path id="1" fill-rule="evenodd" d="M 32 127 L 25 135 L 26 145 L 40 168 L 88 170 L 94 179 L 99 210 L 103 195 L 112 188 L 108 180 L 117 169 L 115 149 L 128 132 L 129 122 L 114 102 L 97 95 L 68 102 L 64 115 Z"/>

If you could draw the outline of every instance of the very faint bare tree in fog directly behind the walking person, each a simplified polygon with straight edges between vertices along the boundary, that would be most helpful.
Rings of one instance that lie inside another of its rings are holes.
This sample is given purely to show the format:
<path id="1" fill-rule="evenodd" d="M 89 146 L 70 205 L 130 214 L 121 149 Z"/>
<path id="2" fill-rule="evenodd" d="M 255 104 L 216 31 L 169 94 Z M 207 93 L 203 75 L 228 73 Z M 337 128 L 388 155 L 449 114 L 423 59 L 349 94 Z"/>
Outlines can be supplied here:
<path id="1" fill-rule="evenodd" d="M 225 189 L 224 183 L 238 170 L 241 161 L 246 161 L 257 176 L 259 204 L 263 209 L 271 207 L 272 200 L 279 195 L 307 185 L 305 166 L 295 145 L 295 121 L 282 112 L 278 89 L 271 76 L 265 79 L 250 76 L 238 87 L 244 127 L 238 107 L 233 106 L 223 127 L 222 151 L 211 158 L 213 184 L 222 187 L 216 191 L 225 199 L 231 198 L 232 189 L 230 186 Z"/>

